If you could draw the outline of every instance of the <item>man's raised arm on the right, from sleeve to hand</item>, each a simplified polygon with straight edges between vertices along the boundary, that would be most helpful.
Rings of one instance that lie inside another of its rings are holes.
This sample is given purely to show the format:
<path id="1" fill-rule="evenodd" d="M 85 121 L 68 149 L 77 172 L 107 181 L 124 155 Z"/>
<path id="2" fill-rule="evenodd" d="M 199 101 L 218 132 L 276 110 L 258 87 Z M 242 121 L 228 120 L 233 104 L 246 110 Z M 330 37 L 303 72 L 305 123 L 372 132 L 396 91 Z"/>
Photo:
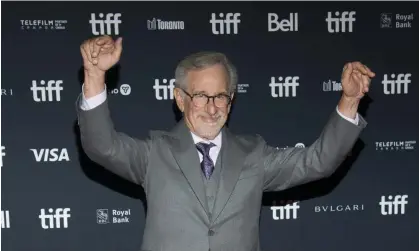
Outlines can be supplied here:
<path id="1" fill-rule="evenodd" d="M 341 100 L 320 136 L 309 147 L 277 150 L 261 141 L 265 191 L 284 190 L 318 180 L 338 168 L 367 125 L 357 110 L 374 76 L 375 73 L 360 62 L 345 65 Z"/>

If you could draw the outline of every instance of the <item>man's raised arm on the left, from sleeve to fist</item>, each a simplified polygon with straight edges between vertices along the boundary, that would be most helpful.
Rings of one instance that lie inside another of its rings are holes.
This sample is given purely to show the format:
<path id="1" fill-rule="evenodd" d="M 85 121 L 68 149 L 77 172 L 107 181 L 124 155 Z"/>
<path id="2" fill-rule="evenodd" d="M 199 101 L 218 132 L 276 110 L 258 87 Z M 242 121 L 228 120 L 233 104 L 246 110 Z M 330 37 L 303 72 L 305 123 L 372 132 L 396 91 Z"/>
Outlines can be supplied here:
<path id="1" fill-rule="evenodd" d="M 151 141 L 117 132 L 106 97 L 105 72 L 122 52 L 122 39 L 92 38 L 80 47 L 84 64 L 84 84 L 76 105 L 83 150 L 109 171 L 142 185 Z"/>

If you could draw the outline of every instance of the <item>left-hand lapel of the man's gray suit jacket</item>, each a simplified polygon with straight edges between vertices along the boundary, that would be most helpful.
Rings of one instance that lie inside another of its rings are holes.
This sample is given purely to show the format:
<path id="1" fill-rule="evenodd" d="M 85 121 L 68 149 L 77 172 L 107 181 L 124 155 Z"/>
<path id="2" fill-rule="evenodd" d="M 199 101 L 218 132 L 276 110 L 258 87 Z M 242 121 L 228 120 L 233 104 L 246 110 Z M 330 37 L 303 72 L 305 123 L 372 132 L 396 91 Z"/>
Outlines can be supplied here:
<path id="1" fill-rule="evenodd" d="M 171 151 L 177 165 L 183 172 L 198 201 L 208 214 L 205 197 L 204 181 L 202 180 L 199 155 L 196 150 L 192 135 L 182 119 L 172 130 L 174 140 L 171 142 Z"/>

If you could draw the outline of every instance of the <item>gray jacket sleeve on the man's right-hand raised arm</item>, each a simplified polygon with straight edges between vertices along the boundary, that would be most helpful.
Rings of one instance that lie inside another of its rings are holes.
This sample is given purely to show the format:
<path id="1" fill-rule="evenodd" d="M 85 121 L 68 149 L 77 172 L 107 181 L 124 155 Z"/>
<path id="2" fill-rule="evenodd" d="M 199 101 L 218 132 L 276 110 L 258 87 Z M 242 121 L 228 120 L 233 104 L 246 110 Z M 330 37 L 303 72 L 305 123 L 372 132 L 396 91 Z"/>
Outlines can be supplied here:
<path id="1" fill-rule="evenodd" d="M 355 125 L 334 111 L 320 136 L 305 148 L 277 149 L 262 140 L 264 190 L 280 191 L 330 176 L 351 151 L 367 125 Z"/>

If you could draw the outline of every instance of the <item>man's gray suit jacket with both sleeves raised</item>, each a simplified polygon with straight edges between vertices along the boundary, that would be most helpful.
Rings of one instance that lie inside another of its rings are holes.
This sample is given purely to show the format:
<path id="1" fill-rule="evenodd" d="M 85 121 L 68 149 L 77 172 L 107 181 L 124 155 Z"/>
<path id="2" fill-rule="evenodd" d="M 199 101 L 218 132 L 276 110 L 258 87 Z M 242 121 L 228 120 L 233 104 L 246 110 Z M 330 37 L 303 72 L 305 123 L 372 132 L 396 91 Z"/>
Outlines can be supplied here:
<path id="1" fill-rule="evenodd" d="M 262 137 L 223 128 L 214 207 L 206 206 L 199 156 L 184 122 L 135 139 L 115 131 L 108 101 L 78 110 L 81 142 L 93 161 L 144 187 L 148 213 L 141 250 L 258 251 L 262 193 L 331 175 L 362 129 L 334 111 L 306 148 L 278 150 Z M 133 238 L 137 238 L 133 236 Z"/>

